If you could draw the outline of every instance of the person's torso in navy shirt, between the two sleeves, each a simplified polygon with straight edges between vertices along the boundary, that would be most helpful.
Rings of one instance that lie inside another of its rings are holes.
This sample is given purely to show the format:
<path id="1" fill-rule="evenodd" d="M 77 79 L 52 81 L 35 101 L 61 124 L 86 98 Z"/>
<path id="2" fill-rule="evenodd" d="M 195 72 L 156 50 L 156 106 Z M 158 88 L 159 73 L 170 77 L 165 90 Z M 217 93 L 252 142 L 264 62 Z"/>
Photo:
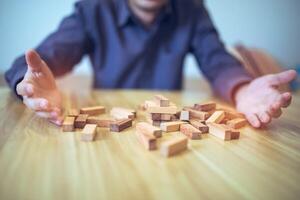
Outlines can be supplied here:
<path id="1" fill-rule="evenodd" d="M 88 6 L 95 87 L 181 89 L 193 34 L 190 4 L 171 1 L 149 30 L 132 16 L 125 0 Z"/>

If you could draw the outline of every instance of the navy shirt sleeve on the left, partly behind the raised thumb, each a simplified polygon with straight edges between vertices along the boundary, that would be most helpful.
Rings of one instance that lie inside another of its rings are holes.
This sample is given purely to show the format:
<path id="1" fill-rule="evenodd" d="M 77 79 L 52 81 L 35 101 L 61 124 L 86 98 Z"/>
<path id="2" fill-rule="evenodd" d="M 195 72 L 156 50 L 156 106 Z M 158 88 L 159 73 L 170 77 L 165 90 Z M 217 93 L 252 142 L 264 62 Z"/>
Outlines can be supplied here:
<path id="1" fill-rule="evenodd" d="M 61 76 L 71 71 L 90 50 L 91 42 L 85 28 L 84 9 L 80 3 L 75 4 L 74 12 L 64 18 L 58 29 L 36 48 L 54 76 Z M 15 93 L 16 86 L 22 81 L 26 71 L 25 55 L 17 58 L 6 71 L 5 79 Z"/>

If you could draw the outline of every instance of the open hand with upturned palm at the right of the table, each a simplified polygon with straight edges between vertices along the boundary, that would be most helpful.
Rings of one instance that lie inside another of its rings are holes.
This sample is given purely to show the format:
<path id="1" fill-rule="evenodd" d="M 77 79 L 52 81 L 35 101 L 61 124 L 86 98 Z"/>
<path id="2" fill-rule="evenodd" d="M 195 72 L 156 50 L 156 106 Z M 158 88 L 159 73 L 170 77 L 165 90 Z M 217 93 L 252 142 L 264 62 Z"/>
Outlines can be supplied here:
<path id="1" fill-rule="evenodd" d="M 290 92 L 280 93 L 277 89 L 282 84 L 296 78 L 294 70 L 284 71 L 254 79 L 243 85 L 235 93 L 237 110 L 245 114 L 249 123 L 256 128 L 278 118 L 281 108 L 289 106 L 292 100 Z"/>

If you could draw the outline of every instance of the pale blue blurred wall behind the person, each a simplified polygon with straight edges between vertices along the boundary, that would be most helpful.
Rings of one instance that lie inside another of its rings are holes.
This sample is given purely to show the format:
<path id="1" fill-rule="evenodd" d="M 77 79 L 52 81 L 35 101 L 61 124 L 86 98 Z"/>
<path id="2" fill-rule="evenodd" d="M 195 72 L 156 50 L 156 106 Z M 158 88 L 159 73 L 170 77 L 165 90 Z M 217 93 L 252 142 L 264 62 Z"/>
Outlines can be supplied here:
<path id="1" fill-rule="evenodd" d="M 0 76 L 13 60 L 28 48 L 36 47 L 61 19 L 70 14 L 75 0 L 0 0 Z M 282 66 L 294 68 L 300 63 L 299 0 L 206 0 L 224 43 L 261 48 Z M 184 67 L 185 87 L 193 88 L 201 73 L 193 56 Z M 91 74 L 87 58 L 73 72 Z M 195 82 L 196 81 L 196 82 Z M 89 84 L 89 82 L 87 83 Z M 198 84 L 196 84 L 198 85 Z"/>

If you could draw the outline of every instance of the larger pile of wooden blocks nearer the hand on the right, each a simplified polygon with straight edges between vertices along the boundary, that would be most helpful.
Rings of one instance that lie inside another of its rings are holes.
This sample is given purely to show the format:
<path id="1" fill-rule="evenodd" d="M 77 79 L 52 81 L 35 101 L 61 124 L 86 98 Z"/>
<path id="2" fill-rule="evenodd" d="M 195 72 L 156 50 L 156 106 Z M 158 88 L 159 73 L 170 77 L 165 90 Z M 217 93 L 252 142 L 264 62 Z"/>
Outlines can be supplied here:
<path id="1" fill-rule="evenodd" d="M 218 106 L 214 102 L 197 103 L 178 110 L 166 97 L 156 95 L 143 104 L 147 122 L 136 124 L 136 134 L 146 149 L 157 149 L 157 139 L 163 132 L 181 132 L 183 137 L 161 144 L 164 156 L 171 156 L 187 149 L 188 139 L 199 140 L 210 133 L 222 140 L 238 139 L 237 130 L 247 124 L 243 115 Z"/>

